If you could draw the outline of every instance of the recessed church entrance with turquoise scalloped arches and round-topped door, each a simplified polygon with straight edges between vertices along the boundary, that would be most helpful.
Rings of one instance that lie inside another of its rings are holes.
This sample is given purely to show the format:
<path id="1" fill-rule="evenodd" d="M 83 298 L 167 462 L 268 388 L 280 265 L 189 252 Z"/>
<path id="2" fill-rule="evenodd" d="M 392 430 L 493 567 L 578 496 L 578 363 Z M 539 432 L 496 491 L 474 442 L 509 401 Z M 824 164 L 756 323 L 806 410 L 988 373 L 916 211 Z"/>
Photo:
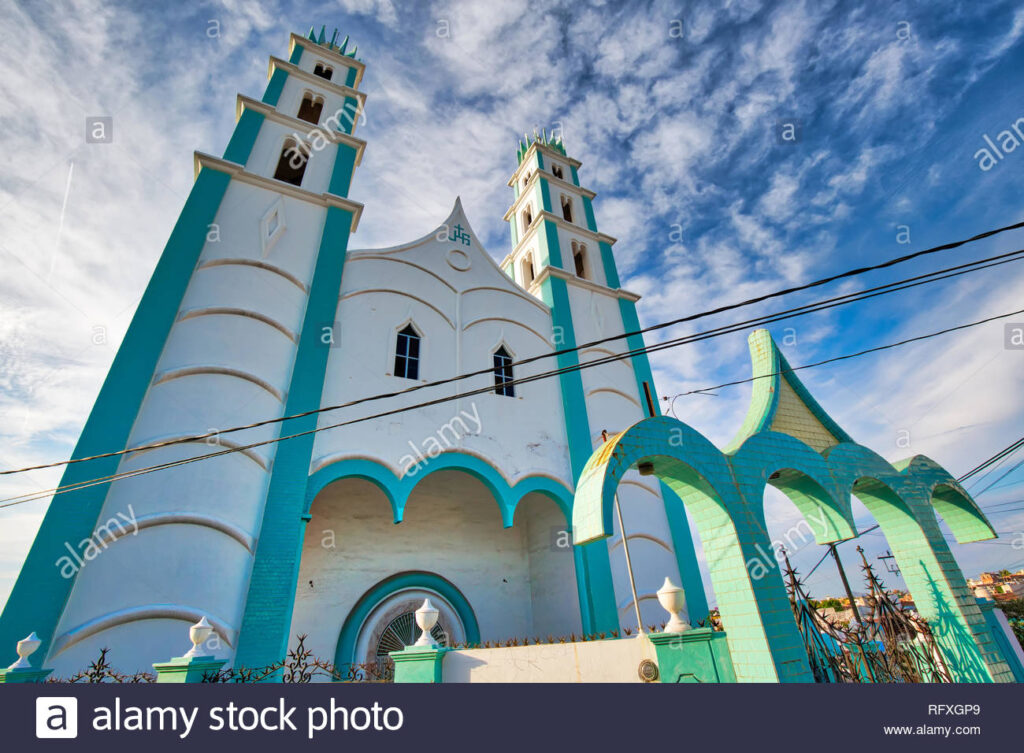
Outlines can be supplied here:
<path id="1" fill-rule="evenodd" d="M 418 637 L 424 598 L 440 612 L 443 644 L 581 632 L 567 492 L 534 477 L 509 487 L 479 459 L 441 458 L 411 479 L 345 461 L 351 475 L 316 485 L 293 640 L 306 635 L 339 666 L 374 663 Z"/>

